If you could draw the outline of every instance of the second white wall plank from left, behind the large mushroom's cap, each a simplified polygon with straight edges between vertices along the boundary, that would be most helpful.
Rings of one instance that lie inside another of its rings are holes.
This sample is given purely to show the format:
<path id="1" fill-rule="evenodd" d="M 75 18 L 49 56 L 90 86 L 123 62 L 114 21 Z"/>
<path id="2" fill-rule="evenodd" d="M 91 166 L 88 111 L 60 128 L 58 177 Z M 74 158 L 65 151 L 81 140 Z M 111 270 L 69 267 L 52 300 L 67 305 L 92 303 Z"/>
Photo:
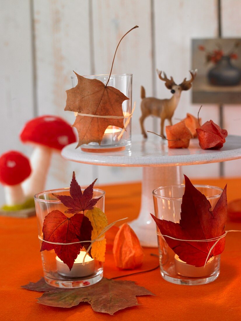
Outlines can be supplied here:
<path id="1" fill-rule="evenodd" d="M 90 74 L 89 4 L 79 0 L 34 0 L 38 114 L 52 114 L 71 124 L 74 115 L 64 111 L 66 89 L 73 70 Z M 68 186 L 75 170 L 85 185 L 93 180 L 93 167 L 64 160 L 54 154 L 47 188 Z"/>

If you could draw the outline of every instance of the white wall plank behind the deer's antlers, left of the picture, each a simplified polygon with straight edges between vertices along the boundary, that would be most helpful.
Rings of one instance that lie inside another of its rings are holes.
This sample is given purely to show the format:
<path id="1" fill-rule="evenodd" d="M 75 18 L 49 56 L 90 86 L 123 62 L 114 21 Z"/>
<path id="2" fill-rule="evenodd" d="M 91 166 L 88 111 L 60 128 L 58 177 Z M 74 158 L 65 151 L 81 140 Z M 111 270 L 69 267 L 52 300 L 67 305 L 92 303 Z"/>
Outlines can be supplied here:
<path id="1" fill-rule="evenodd" d="M 155 1 L 156 66 L 173 76 L 176 83 L 189 77 L 191 69 L 191 39 L 217 37 L 217 1 Z M 171 97 L 163 82 L 157 81 L 157 96 Z M 204 105 L 201 117 L 219 123 L 219 110 L 215 105 Z M 191 104 L 191 90 L 181 94 L 174 117 L 184 118 L 186 113 L 197 115 L 199 105 Z M 174 120 L 178 122 L 179 120 Z M 219 164 L 184 166 L 190 177 L 217 177 Z"/>

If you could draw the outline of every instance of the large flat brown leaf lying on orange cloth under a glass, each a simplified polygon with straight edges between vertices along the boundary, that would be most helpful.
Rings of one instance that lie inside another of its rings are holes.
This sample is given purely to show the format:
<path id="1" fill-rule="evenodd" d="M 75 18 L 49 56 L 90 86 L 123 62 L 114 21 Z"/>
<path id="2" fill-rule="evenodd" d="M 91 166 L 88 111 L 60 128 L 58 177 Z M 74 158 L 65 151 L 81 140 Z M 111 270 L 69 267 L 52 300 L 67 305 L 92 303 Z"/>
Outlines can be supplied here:
<path id="1" fill-rule="evenodd" d="M 30 285 L 23 287 L 29 290 L 40 291 L 38 286 L 36 287 L 37 290 L 35 290 L 33 283 L 30 283 Z M 47 290 L 47 292 L 43 293 L 43 295 L 38 298 L 38 303 L 51 307 L 71 308 L 80 302 L 88 302 L 94 311 L 108 313 L 110 315 L 113 315 L 121 309 L 137 306 L 138 301 L 136 296 L 154 295 L 133 281 L 114 281 L 106 278 L 84 288 L 76 288 L 73 290 L 53 289 L 53 291 Z"/>

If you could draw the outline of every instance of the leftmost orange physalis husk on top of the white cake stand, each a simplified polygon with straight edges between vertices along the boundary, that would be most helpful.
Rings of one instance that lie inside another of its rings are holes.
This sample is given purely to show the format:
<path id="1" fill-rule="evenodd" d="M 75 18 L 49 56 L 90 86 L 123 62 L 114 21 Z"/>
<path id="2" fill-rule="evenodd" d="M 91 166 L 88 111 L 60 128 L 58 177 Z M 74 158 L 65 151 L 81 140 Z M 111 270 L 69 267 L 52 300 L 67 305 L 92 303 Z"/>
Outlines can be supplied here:
<path id="1" fill-rule="evenodd" d="M 169 148 L 187 148 L 193 137 L 184 120 L 175 125 L 166 126 L 166 134 Z"/>

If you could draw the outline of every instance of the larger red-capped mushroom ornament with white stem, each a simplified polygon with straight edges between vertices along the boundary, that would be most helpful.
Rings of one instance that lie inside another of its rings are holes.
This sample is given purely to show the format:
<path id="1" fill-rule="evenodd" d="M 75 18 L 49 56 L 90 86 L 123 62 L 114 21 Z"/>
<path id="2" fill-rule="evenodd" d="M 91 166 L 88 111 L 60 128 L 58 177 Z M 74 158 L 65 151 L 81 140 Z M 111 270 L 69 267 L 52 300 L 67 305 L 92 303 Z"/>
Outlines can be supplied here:
<path id="1" fill-rule="evenodd" d="M 33 196 L 44 190 L 52 152 L 75 143 L 76 137 L 73 128 L 64 119 L 45 115 L 27 122 L 20 139 L 35 146 L 30 158 L 32 173 L 23 184 L 25 195 Z"/>

